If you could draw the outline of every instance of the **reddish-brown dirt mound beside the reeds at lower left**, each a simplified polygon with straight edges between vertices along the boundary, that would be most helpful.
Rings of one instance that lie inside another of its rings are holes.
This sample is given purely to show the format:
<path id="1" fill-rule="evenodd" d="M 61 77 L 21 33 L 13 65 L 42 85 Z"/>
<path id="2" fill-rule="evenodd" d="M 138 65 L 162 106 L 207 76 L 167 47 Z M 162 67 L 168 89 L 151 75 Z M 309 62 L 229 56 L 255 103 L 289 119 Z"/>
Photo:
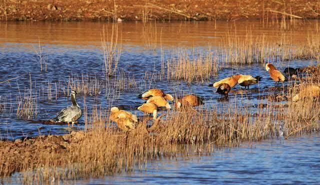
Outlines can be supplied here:
<path id="1" fill-rule="evenodd" d="M 84 137 L 83 131 L 65 135 L 37 136 L 15 141 L 0 141 L 0 176 L 10 175 L 20 171 L 23 166 L 32 168 L 41 161 L 41 157 L 49 155 L 62 155 L 71 144 L 77 143 Z M 40 157 L 40 158 L 39 158 Z M 25 161 L 25 159 L 31 159 Z M 36 160 L 37 159 L 37 160 Z M 42 158 L 45 163 L 45 157 Z"/>

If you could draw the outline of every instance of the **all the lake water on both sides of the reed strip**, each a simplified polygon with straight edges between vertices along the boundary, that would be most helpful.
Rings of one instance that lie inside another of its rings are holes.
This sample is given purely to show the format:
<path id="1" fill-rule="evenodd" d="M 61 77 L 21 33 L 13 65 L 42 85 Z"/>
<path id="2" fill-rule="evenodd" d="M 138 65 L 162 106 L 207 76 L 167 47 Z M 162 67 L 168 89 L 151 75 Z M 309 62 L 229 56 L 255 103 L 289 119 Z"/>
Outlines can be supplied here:
<path id="1" fill-rule="evenodd" d="M 191 83 L 172 80 L 153 80 L 151 85 L 145 80 L 145 73 L 161 67 L 161 51 L 169 56 L 172 50 L 196 48 L 206 50 L 208 46 L 218 49 L 221 38 L 230 31 L 239 36 L 251 30 L 253 35 L 266 34 L 276 39 L 279 28 L 262 27 L 257 22 L 214 23 L 214 22 L 177 22 L 177 23 L 121 23 L 122 53 L 118 69 L 126 75 L 134 76 L 139 85 L 115 93 L 112 100 L 107 94 L 110 89 L 104 83 L 103 52 L 100 46 L 100 34 L 103 23 L 0 23 L 0 104 L 7 109 L 0 111 L 0 139 L 16 139 L 39 134 L 63 134 L 69 132 L 66 125 L 45 125 L 36 120 L 45 120 L 71 104 L 67 82 L 70 76 L 88 75 L 99 79 L 101 85 L 97 96 L 77 96 L 81 108 L 84 104 L 88 112 L 92 107 L 107 108 L 111 105 L 124 105 L 126 110 L 143 115 L 135 110 L 143 100 L 135 96 L 154 87 L 165 92 L 195 93 L 205 99 L 205 105 L 199 108 L 223 106 L 220 95 L 214 93 L 209 83 L 232 74 L 250 74 L 261 76 L 262 81 L 254 85 L 251 91 L 242 95 L 229 94 L 229 104 L 240 102 L 239 106 L 257 105 L 263 102 L 258 95 L 264 89 L 274 85 L 264 69 L 264 64 L 225 66 L 217 77 L 211 77 L 203 83 Z M 110 25 L 108 26 L 108 28 Z M 154 29 L 156 28 L 156 34 Z M 305 33 L 313 28 L 313 22 L 297 22 L 285 31 L 294 42 L 301 42 Z M 110 34 L 110 30 L 108 30 Z M 154 33 L 152 35 L 152 33 Z M 155 41 L 155 38 L 157 40 Z M 44 46 L 47 60 L 47 72 L 40 72 L 37 61 L 37 42 Z M 153 44 L 152 44 L 153 43 Z M 150 49 L 150 46 L 154 49 Z M 282 71 L 285 67 L 304 67 L 316 64 L 313 60 L 295 60 L 291 62 L 274 61 Z M 115 80 L 114 77 L 111 80 Z M 38 115 L 31 120 L 16 118 L 19 96 L 31 94 L 37 97 Z M 48 99 L 48 84 L 51 84 Z M 58 96 L 55 97 L 55 85 Z M 239 90 L 236 86 L 235 91 Z M 112 89 L 113 90 L 113 89 Z M 112 93 L 114 93 L 112 91 Z M 236 98 L 235 98 L 236 97 Z M 237 101 L 236 101 L 237 100 Z M 241 101 L 239 101 L 241 100 Z M 83 116 L 75 129 L 83 129 Z M 289 140 L 271 139 L 252 147 L 242 144 L 236 148 L 223 148 L 210 156 L 163 159 L 148 162 L 146 169 L 130 173 L 120 173 L 99 179 L 81 179 L 76 184 L 319 184 L 320 174 L 320 136 L 305 135 Z M 73 182 L 72 182 L 73 183 Z"/>

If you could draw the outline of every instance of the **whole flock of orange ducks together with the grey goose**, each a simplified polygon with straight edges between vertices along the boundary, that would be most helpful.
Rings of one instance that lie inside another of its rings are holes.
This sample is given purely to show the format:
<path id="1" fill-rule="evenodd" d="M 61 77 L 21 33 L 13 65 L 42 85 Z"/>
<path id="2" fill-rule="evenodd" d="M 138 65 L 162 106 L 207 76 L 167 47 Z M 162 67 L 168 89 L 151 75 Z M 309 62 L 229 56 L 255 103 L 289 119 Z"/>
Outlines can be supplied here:
<path id="1" fill-rule="evenodd" d="M 265 70 L 268 71 L 272 80 L 277 82 L 284 82 L 286 77 L 275 68 L 274 65 L 267 63 L 265 65 Z M 296 75 L 297 69 L 294 68 L 287 68 L 284 72 L 288 73 L 289 75 Z M 250 85 L 257 84 L 262 77 L 260 76 L 251 76 L 251 75 L 241 75 L 236 74 L 230 77 L 224 78 L 219 80 L 213 84 L 209 84 L 209 87 L 216 88 L 216 93 L 224 95 L 224 97 L 228 97 L 228 93 L 236 84 L 244 87 L 244 89 L 248 88 Z M 298 101 L 303 96 L 309 94 L 310 96 L 319 96 L 320 95 L 320 87 L 318 86 L 311 86 L 306 90 L 301 90 L 299 94 L 295 95 L 292 98 L 293 102 Z M 79 119 L 82 115 L 82 111 L 79 105 L 75 101 L 75 91 L 71 91 L 71 102 L 72 105 L 62 109 L 60 112 L 57 113 L 57 116 L 53 118 L 53 120 L 58 122 L 66 122 L 71 123 L 72 127 L 74 122 Z M 149 89 L 139 95 L 137 98 L 141 98 L 146 100 L 145 103 L 140 105 L 137 110 L 143 112 L 144 114 L 152 114 L 152 118 L 155 120 L 157 118 L 157 110 L 158 108 L 165 108 L 171 109 L 171 106 L 168 101 L 173 101 L 173 105 L 175 109 L 181 108 L 189 108 L 199 106 L 204 104 L 203 98 L 194 94 L 187 94 L 181 97 L 173 98 L 172 95 L 164 93 L 161 89 Z M 137 116 L 123 110 L 122 106 L 119 107 L 112 107 L 110 109 L 109 120 L 113 121 L 117 124 L 118 128 L 124 131 L 129 131 L 135 128 L 136 123 L 138 122 Z"/>

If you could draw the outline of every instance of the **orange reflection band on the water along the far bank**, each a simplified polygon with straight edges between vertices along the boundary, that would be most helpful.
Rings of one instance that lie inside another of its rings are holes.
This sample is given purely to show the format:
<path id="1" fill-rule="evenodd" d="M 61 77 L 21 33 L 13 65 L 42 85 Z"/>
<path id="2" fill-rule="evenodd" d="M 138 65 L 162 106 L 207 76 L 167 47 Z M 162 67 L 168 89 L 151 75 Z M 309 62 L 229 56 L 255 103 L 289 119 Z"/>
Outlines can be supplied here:
<path id="1" fill-rule="evenodd" d="M 160 44 L 207 47 L 217 45 L 228 32 L 236 32 L 241 36 L 250 31 L 252 35 L 265 34 L 273 40 L 285 34 L 298 42 L 304 40 L 305 33 L 315 26 L 316 21 L 294 21 L 285 32 L 280 33 L 279 25 L 262 27 L 259 21 L 149 23 L 146 26 L 140 22 L 127 22 L 119 24 L 118 30 L 122 43 L 127 45 L 144 46 L 156 42 L 157 47 Z M 104 22 L 2 22 L 0 43 L 37 43 L 39 38 L 45 44 L 84 45 L 82 47 L 100 45 L 103 28 L 108 28 L 110 35 L 111 25 Z"/>

